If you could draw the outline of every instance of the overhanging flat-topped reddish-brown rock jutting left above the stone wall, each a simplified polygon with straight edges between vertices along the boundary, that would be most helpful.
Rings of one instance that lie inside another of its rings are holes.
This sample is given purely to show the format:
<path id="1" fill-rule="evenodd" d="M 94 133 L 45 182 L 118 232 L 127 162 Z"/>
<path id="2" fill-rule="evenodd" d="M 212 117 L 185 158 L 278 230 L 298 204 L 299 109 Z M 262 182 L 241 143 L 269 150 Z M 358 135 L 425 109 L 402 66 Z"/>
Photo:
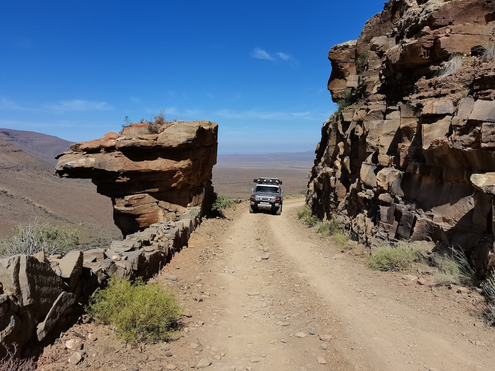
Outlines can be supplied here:
<path id="1" fill-rule="evenodd" d="M 166 123 L 150 134 L 131 124 L 120 134 L 71 145 L 58 156 L 60 177 L 89 178 L 110 197 L 124 236 L 151 224 L 177 221 L 213 194 L 218 125 L 209 121 Z"/>

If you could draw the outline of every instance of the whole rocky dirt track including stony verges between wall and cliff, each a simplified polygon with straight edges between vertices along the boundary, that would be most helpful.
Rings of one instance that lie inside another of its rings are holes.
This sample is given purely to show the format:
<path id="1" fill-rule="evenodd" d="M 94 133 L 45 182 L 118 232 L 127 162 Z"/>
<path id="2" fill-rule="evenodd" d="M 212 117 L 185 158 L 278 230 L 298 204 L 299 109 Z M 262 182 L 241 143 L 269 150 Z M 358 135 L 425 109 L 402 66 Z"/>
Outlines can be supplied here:
<path id="1" fill-rule="evenodd" d="M 364 249 L 297 221 L 303 202 L 286 200 L 281 216 L 249 214 L 243 203 L 231 220 L 203 222 L 157 278 L 188 316 L 175 341 L 131 347 L 101 326 L 75 325 L 61 340 L 86 337 L 84 361 L 67 365 L 72 352 L 58 342 L 39 370 L 492 369 L 495 331 L 478 317 L 478 293 L 368 270 Z"/>

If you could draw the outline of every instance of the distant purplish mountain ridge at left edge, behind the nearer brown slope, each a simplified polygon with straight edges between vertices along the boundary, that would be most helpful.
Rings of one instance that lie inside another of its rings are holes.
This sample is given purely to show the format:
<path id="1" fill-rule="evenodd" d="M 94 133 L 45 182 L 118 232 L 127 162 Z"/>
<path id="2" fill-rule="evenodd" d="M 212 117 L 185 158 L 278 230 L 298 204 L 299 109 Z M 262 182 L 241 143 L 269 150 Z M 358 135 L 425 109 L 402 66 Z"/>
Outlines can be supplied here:
<path id="1" fill-rule="evenodd" d="M 73 143 L 51 135 L 15 129 L 0 129 L 0 139 L 16 146 L 49 165 L 55 165 L 55 156 L 68 151 Z"/>

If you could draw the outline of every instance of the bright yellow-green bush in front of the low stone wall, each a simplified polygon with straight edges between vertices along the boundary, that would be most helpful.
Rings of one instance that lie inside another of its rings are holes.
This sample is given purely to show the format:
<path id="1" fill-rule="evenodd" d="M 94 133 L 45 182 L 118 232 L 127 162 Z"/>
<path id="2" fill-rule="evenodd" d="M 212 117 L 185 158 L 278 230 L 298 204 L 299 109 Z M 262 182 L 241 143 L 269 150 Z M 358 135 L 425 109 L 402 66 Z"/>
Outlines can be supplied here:
<path id="1" fill-rule="evenodd" d="M 168 341 L 183 309 L 171 289 L 158 283 L 112 277 L 86 308 L 96 323 L 110 326 L 125 342 Z"/>

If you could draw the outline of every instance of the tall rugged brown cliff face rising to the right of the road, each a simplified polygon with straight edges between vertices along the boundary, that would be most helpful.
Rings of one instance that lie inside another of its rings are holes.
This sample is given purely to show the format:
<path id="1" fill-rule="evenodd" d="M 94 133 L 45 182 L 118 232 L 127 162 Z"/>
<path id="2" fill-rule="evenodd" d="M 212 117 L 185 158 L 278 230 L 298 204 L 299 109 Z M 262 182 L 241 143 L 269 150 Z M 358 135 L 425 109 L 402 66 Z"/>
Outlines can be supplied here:
<path id="1" fill-rule="evenodd" d="M 495 264 L 494 27 L 495 1 L 391 0 L 330 49 L 347 107 L 322 127 L 314 214 L 368 245 L 458 245 Z"/>

